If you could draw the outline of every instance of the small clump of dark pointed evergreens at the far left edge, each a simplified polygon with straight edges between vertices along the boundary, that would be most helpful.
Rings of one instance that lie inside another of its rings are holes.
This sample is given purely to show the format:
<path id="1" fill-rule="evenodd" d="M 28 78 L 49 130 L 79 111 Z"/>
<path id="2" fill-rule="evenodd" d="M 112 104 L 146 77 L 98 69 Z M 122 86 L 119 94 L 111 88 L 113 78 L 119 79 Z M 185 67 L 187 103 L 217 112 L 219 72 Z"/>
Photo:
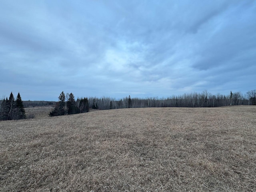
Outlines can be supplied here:
<path id="1" fill-rule="evenodd" d="M 15 100 L 12 92 L 9 99 L 6 97 L 0 104 L 0 120 L 26 119 L 26 112 L 23 106 L 20 93 Z"/>

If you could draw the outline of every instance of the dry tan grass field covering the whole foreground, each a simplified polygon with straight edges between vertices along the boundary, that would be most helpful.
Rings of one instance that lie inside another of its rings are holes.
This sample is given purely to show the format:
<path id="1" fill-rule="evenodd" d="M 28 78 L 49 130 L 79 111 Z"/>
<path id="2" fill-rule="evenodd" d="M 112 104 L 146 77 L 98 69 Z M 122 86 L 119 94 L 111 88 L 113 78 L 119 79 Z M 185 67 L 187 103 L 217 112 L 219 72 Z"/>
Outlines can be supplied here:
<path id="1" fill-rule="evenodd" d="M 0 191 L 256 191 L 256 106 L 0 122 Z"/>

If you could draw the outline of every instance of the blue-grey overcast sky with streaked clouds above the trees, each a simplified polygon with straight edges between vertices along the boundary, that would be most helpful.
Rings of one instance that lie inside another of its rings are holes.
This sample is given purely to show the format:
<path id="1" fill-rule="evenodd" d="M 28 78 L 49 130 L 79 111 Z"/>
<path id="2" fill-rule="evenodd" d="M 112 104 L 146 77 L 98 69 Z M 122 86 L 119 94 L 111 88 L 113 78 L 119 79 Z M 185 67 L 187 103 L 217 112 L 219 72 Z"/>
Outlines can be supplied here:
<path id="1" fill-rule="evenodd" d="M 256 89 L 254 0 L 0 0 L 0 99 Z"/>

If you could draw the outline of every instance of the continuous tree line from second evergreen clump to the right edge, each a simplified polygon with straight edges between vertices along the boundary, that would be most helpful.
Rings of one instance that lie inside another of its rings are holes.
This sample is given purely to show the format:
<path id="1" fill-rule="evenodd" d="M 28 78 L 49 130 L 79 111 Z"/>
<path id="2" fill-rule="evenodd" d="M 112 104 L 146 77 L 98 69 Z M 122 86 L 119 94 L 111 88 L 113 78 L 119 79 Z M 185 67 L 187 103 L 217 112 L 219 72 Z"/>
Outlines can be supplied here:
<path id="1" fill-rule="evenodd" d="M 66 98 L 66 100 L 65 100 Z M 119 108 L 147 108 L 147 107 L 220 107 L 233 105 L 256 105 L 256 90 L 248 91 L 245 95 L 241 92 L 230 92 L 228 95 L 211 94 L 207 90 L 202 93 L 190 93 L 180 96 L 173 95 L 168 98 L 126 98 L 116 100 L 109 97 L 77 98 L 74 95 L 62 93 L 59 101 L 56 102 L 54 110 L 50 116 L 78 114 L 89 112 L 89 108 L 99 110 L 119 109 Z"/>

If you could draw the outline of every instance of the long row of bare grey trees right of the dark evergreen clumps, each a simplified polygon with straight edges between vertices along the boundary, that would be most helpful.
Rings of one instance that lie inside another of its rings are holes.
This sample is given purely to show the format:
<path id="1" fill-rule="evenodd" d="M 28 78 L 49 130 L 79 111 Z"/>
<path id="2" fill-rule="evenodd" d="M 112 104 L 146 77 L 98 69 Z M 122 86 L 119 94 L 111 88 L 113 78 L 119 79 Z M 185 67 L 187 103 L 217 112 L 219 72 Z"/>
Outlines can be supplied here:
<path id="1" fill-rule="evenodd" d="M 97 109 L 118 109 L 118 108 L 147 108 L 147 107 L 220 107 L 233 105 L 256 105 L 256 90 L 247 92 L 230 92 L 230 94 L 211 94 L 207 90 L 202 93 L 190 93 L 183 95 L 173 95 L 168 98 L 131 98 L 126 97 L 120 100 L 114 98 L 88 98 L 88 104 L 96 106 Z M 92 108 L 93 108 L 92 107 Z"/>

